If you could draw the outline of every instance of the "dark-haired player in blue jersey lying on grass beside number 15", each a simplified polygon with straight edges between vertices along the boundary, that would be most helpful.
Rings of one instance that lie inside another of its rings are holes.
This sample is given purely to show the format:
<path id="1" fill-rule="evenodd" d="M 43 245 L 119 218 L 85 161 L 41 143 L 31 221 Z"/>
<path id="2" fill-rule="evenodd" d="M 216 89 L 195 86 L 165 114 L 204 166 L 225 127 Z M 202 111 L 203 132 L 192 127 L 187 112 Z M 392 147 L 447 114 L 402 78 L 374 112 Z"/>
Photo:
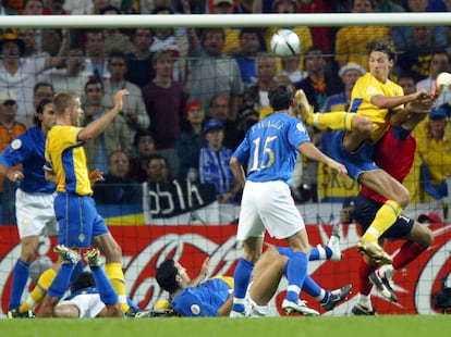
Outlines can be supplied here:
<path id="1" fill-rule="evenodd" d="M 341 257 L 339 239 L 336 235 L 329 240 L 329 245 L 330 241 L 334 241 L 336 248 L 329 260 Z M 327 250 L 330 249 L 329 245 L 326 246 Z M 313 257 L 318 257 L 316 248 L 312 248 L 312 251 Z M 291 253 L 290 248 L 280 247 L 268 247 L 263 253 L 253 272 L 253 282 L 247 298 L 249 303 L 247 315 L 267 315 L 268 302 L 279 287 Z M 166 260 L 158 266 L 157 282 L 162 289 L 170 294 L 170 302 L 176 314 L 183 316 L 229 316 L 233 301 L 233 278 L 220 276 L 200 283 L 206 277 L 207 271 L 208 259 L 204 262 L 199 275 L 193 280 L 187 275 L 186 270 L 171 259 Z M 330 291 L 320 288 L 307 276 L 303 290 L 317 299 L 324 310 L 329 311 L 348 297 L 351 285 Z M 303 307 L 302 313 L 305 315 L 319 314 L 307 305 Z"/>

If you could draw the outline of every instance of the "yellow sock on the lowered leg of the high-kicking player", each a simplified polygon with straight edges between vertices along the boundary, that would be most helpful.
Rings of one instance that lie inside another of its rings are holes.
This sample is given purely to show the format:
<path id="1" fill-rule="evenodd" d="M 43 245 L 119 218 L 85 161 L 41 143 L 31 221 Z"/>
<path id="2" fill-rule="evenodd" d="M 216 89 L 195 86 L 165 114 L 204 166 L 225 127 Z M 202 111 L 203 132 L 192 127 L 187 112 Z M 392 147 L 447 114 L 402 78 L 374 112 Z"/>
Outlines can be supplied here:
<path id="1" fill-rule="evenodd" d="M 368 229 L 366 229 L 362 238 L 369 241 L 377 241 L 377 239 L 394 224 L 402 211 L 403 209 L 398 202 L 387 200 L 379 211 L 377 211 L 375 220 Z"/>

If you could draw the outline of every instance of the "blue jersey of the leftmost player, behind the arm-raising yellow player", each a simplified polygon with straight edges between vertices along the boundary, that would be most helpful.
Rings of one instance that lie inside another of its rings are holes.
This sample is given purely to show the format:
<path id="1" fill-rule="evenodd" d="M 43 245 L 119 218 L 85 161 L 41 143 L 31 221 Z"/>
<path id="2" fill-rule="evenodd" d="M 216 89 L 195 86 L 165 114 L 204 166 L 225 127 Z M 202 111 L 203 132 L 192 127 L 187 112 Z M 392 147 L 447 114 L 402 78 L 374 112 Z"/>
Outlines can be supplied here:
<path id="1" fill-rule="evenodd" d="M 0 154 L 0 164 L 12 167 L 22 163 L 24 179 L 19 188 L 25 192 L 52 194 L 54 184 L 48 183 L 44 175 L 44 151 L 46 136 L 39 127 L 33 127 L 12 140 Z"/>

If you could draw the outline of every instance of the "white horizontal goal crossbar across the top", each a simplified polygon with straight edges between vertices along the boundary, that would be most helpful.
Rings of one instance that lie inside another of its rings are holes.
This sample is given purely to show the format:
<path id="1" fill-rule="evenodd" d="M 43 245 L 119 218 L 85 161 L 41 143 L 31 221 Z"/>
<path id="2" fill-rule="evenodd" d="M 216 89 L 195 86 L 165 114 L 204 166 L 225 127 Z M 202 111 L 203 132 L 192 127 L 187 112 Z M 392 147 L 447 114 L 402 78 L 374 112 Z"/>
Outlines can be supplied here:
<path id="1" fill-rule="evenodd" d="M 3 15 L 0 28 L 448 26 L 451 13 Z"/>

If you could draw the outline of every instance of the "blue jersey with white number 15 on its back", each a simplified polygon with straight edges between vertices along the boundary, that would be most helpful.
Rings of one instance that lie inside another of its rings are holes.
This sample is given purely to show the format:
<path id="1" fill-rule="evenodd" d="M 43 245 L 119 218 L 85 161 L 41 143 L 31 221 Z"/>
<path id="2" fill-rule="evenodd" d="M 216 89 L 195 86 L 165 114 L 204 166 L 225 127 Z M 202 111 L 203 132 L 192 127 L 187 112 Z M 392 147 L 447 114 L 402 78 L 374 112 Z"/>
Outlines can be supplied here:
<path id="1" fill-rule="evenodd" d="M 287 113 L 273 113 L 254 124 L 233 157 L 248 160 L 251 182 L 283 180 L 290 185 L 297 159 L 297 147 L 310 141 L 305 125 Z"/>

